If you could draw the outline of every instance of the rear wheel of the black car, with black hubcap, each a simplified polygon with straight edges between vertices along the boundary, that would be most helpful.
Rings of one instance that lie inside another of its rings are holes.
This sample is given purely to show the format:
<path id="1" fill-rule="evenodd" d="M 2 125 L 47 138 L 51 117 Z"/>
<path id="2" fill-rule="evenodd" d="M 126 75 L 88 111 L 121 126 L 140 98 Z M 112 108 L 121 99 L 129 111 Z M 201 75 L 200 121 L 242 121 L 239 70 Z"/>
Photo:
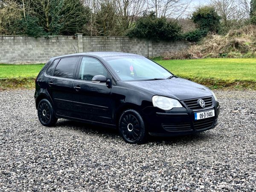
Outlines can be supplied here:
<path id="1" fill-rule="evenodd" d="M 42 99 L 38 104 L 38 119 L 42 125 L 52 127 L 56 125 L 56 118 L 52 104 L 47 99 Z"/>

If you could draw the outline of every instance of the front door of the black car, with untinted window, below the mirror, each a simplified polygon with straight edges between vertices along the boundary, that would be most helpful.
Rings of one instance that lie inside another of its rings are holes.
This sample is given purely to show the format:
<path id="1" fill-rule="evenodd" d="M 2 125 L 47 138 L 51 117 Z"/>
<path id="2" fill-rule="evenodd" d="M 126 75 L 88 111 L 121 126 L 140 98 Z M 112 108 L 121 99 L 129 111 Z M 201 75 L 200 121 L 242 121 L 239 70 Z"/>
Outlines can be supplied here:
<path id="1" fill-rule="evenodd" d="M 92 82 L 96 75 L 111 79 L 105 67 L 96 58 L 83 57 L 77 74 L 73 97 L 76 118 L 113 125 L 111 87 L 106 83 Z"/>

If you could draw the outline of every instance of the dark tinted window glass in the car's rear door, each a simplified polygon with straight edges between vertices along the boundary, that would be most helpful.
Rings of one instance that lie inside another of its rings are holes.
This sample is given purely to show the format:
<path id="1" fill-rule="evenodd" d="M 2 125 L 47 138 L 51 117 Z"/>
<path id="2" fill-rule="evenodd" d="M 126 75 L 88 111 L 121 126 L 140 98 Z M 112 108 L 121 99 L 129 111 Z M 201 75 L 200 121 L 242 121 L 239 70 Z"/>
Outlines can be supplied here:
<path id="1" fill-rule="evenodd" d="M 78 60 L 79 57 L 62 58 L 55 68 L 53 76 L 72 79 Z"/>

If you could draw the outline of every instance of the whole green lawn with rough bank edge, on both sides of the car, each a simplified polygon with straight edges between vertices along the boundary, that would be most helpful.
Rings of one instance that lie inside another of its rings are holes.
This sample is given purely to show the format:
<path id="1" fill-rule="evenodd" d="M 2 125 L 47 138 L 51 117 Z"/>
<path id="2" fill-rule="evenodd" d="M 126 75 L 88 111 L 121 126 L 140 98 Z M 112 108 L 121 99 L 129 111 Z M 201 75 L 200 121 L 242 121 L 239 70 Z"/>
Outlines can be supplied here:
<path id="1" fill-rule="evenodd" d="M 209 58 L 155 60 L 177 76 L 211 88 L 256 90 L 256 58 Z M 0 64 L 0 89 L 34 87 L 34 79 L 44 64 Z"/>

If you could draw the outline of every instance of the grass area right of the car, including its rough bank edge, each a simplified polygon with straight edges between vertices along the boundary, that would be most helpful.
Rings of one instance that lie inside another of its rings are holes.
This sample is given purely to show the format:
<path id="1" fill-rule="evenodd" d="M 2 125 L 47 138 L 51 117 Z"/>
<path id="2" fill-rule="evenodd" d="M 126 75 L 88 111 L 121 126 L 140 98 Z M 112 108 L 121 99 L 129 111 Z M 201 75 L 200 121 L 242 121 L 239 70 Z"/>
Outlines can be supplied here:
<path id="1" fill-rule="evenodd" d="M 255 58 L 156 59 L 155 61 L 179 77 L 212 89 L 256 90 Z"/>

